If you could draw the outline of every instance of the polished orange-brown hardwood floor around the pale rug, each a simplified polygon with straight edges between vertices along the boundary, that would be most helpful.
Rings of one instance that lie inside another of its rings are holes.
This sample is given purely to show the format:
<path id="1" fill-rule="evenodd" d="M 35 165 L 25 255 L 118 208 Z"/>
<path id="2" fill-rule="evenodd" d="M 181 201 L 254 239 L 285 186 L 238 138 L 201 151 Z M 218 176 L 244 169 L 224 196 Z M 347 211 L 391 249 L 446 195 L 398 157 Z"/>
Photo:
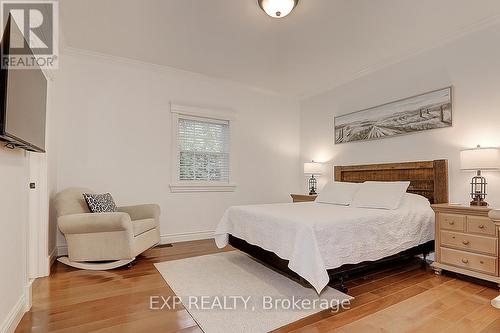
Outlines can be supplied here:
<path id="1" fill-rule="evenodd" d="M 33 308 L 16 332 L 201 332 L 186 310 L 149 310 L 151 295 L 173 295 L 153 263 L 219 252 L 213 241 L 174 244 L 108 272 L 55 264 L 37 280 Z M 352 308 L 321 312 L 276 332 L 500 332 L 498 291 L 436 276 L 418 264 L 350 282 Z M 230 332 L 229 332 L 230 333 Z"/>

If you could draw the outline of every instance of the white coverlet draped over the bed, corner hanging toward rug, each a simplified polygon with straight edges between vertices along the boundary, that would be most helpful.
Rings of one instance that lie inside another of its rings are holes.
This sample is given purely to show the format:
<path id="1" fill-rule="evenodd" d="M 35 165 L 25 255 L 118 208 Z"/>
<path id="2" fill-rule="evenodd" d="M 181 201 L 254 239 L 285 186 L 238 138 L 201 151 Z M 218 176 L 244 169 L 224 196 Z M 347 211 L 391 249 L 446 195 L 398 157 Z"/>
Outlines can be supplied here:
<path id="1" fill-rule="evenodd" d="M 229 234 L 272 251 L 319 293 L 327 270 L 373 261 L 434 239 L 434 213 L 424 197 L 406 194 L 396 210 L 325 203 L 229 208 L 215 231 L 219 248 Z"/>

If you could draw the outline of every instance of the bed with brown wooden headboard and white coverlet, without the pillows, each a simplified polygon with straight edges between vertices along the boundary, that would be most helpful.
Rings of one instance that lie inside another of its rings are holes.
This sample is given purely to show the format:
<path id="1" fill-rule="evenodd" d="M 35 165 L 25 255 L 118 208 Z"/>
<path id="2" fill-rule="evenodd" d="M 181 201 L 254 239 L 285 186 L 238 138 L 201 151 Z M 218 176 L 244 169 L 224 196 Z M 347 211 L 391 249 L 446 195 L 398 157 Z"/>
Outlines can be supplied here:
<path id="1" fill-rule="evenodd" d="M 219 247 L 230 244 L 310 284 L 318 293 L 381 265 L 434 249 L 430 203 L 448 202 L 446 160 L 335 167 L 335 180 L 410 181 L 396 210 L 315 202 L 235 206 L 219 223 Z"/>

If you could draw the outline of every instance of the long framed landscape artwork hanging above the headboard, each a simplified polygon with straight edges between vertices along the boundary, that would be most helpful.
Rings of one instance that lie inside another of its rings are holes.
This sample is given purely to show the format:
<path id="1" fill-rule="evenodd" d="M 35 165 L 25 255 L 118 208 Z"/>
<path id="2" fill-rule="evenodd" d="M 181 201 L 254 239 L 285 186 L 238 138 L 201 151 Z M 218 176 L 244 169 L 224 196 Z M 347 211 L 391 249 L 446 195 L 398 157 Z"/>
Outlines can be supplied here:
<path id="1" fill-rule="evenodd" d="M 367 141 L 452 126 L 452 88 L 335 117 L 335 143 Z"/>

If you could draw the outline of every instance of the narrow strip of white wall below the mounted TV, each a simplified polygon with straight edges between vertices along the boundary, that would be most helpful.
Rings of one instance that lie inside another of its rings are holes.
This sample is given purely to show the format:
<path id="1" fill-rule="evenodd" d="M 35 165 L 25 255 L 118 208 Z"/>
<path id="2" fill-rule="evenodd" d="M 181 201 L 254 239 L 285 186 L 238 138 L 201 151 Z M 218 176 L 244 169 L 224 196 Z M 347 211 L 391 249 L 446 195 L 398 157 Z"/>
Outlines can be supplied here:
<path id="1" fill-rule="evenodd" d="M 0 143 L 0 332 L 25 310 L 28 175 L 26 152 Z"/>

